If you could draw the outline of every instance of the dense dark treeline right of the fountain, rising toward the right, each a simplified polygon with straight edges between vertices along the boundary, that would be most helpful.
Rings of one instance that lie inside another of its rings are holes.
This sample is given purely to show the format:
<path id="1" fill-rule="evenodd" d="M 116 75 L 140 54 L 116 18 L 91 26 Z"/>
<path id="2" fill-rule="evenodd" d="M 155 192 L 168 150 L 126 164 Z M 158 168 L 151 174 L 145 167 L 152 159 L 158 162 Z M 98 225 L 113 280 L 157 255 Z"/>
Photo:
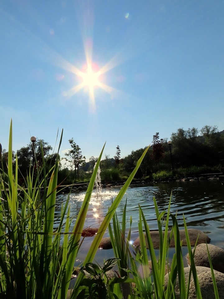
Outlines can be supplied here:
<path id="1" fill-rule="evenodd" d="M 133 150 L 120 159 L 119 164 L 106 157 L 100 163 L 103 179 L 117 180 L 128 177 L 145 149 L 146 147 Z M 222 164 L 222 155 L 219 152 L 223 150 L 224 130 L 219 132 L 217 126 L 204 126 L 201 130 L 195 127 L 188 130 L 179 128 L 171 134 L 170 140 L 160 139 L 157 132 L 136 178 L 218 173 Z M 91 157 L 91 160 L 94 160 L 94 157 Z M 86 164 L 83 169 L 86 170 L 87 165 L 89 166 Z"/>

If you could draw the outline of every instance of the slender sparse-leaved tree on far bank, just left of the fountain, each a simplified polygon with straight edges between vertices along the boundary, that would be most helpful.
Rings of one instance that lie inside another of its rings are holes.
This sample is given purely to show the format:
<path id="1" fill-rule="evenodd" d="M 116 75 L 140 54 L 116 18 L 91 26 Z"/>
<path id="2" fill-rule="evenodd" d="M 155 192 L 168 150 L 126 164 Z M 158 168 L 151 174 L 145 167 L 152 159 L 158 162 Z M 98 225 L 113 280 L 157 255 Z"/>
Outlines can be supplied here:
<path id="1" fill-rule="evenodd" d="M 80 147 L 74 142 L 73 138 L 69 139 L 68 142 L 70 143 L 72 149 L 69 150 L 68 153 L 65 153 L 65 156 L 69 158 L 66 158 L 66 161 L 74 166 L 75 178 L 79 178 L 79 166 L 81 166 L 85 162 L 86 157 L 82 155 Z"/>

